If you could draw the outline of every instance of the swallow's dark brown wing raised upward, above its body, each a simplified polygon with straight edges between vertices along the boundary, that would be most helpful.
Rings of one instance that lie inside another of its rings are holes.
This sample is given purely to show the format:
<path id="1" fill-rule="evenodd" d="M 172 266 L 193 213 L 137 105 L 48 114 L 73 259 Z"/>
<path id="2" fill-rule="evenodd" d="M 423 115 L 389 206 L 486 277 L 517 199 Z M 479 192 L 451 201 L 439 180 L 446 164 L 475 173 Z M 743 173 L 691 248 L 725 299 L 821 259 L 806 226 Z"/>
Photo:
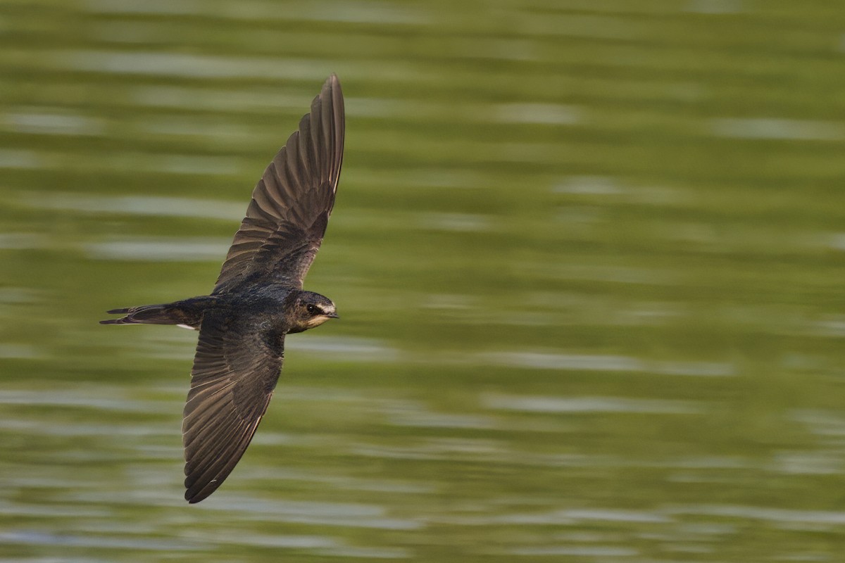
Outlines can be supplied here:
<path id="1" fill-rule="evenodd" d="M 332 74 L 255 186 L 212 293 L 248 279 L 302 289 L 335 204 L 344 119 L 341 83 Z"/>

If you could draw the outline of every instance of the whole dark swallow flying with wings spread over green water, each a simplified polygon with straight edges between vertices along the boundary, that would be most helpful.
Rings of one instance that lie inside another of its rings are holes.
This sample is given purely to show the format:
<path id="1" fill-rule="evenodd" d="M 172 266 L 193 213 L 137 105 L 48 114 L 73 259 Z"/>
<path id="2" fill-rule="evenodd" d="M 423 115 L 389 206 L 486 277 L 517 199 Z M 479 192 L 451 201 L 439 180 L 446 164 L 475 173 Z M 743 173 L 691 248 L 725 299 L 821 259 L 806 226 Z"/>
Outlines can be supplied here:
<path id="1" fill-rule="evenodd" d="M 255 186 L 211 294 L 114 309 L 123 317 L 101 321 L 199 330 L 182 423 L 188 502 L 217 490 L 246 451 L 279 379 L 285 335 L 337 318 L 303 279 L 335 203 L 343 133 L 332 74 Z"/>

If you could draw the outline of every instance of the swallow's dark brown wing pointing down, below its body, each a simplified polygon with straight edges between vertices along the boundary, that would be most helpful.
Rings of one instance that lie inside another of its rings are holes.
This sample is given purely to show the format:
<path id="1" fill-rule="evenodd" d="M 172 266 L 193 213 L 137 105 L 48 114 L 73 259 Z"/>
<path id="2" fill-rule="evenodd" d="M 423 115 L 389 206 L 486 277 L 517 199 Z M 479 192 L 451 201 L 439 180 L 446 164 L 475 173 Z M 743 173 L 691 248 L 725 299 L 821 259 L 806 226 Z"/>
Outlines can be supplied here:
<path id="1" fill-rule="evenodd" d="M 269 343 L 237 320 L 206 312 L 182 423 L 188 502 L 217 490 L 246 451 L 279 379 L 283 338 Z"/>

